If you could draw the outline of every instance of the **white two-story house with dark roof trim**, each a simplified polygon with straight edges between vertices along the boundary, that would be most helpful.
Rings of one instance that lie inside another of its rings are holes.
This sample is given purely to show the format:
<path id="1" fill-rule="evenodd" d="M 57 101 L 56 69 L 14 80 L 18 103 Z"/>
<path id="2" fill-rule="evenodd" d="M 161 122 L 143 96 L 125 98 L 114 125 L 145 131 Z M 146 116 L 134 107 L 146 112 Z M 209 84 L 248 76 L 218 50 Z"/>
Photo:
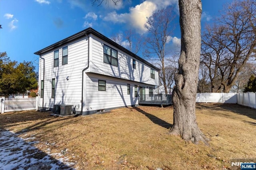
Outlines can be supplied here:
<path id="1" fill-rule="evenodd" d="M 73 105 L 77 114 L 138 105 L 153 94 L 159 69 L 92 28 L 35 54 L 39 63 L 39 109 Z"/>

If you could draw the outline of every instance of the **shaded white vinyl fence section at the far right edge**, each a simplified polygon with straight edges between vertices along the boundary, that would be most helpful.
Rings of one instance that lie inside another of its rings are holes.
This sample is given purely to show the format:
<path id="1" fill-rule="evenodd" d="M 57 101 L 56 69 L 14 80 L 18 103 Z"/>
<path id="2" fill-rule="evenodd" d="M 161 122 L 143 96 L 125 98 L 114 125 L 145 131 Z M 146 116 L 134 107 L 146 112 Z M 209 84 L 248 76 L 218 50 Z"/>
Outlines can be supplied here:
<path id="1" fill-rule="evenodd" d="M 244 105 L 256 109 L 256 93 L 238 93 L 237 94 L 237 103 L 239 105 Z"/>

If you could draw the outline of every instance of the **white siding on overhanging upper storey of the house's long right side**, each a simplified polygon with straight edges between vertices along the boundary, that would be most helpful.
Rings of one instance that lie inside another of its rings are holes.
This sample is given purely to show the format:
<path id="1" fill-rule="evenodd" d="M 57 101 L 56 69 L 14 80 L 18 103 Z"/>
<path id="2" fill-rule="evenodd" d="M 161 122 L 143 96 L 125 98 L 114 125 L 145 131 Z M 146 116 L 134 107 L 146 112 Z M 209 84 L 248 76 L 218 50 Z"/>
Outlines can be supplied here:
<path id="1" fill-rule="evenodd" d="M 136 60 L 136 69 L 133 69 L 134 58 L 119 49 L 117 49 L 118 67 L 104 63 L 104 44 L 113 49 L 116 49 L 116 47 L 113 47 L 93 35 L 92 42 L 90 42 L 90 44 L 92 44 L 92 51 L 90 52 L 90 59 L 92 61 L 92 66 L 90 68 L 91 72 L 147 83 L 150 85 L 158 85 L 158 71 L 156 71 L 155 79 L 151 79 L 150 69 L 152 68 L 149 65 L 140 60 Z"/>

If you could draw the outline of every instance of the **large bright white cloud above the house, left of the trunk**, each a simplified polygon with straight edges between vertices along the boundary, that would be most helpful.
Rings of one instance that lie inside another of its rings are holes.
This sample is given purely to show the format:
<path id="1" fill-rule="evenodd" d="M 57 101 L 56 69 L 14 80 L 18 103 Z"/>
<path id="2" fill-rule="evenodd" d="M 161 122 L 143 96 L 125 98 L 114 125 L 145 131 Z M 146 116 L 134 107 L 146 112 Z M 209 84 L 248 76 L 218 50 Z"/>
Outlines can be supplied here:
<path id="1" fill-rule="evenodd" d="M 156 10 L 156 4 L 150 1 L 144 1 L 142 4 L 131 7 L 129 13 L 117 14 L 116 11 L 114 11 L 107 14 L 103 20 L 112 21 L 114 23 L 129 23 L 140 34 L 143 34 L 146 32 L 144 24 L 147 21 L 147 17 L 152 16 Z"/>

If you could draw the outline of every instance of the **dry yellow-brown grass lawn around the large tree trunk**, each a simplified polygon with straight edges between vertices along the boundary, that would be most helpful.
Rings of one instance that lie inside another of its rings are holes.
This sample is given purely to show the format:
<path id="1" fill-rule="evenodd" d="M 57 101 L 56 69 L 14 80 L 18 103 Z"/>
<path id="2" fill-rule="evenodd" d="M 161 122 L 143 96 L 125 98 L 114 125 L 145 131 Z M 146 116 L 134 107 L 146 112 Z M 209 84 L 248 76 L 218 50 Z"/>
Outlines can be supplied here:
<path id="1" fill-rule="evenodd" d="M 33 135 L 44 152 L 67 150 L 63 154 L 78 170 L 230 169 L 232 158 L 256 158 L 255 109 L 197 104 L 197 123 L 210 147 L 168 135 L 172 114 L 172 106 L 121 108 L 86 117 L 22 111 L 1 114 L 0 128 Z"/>

